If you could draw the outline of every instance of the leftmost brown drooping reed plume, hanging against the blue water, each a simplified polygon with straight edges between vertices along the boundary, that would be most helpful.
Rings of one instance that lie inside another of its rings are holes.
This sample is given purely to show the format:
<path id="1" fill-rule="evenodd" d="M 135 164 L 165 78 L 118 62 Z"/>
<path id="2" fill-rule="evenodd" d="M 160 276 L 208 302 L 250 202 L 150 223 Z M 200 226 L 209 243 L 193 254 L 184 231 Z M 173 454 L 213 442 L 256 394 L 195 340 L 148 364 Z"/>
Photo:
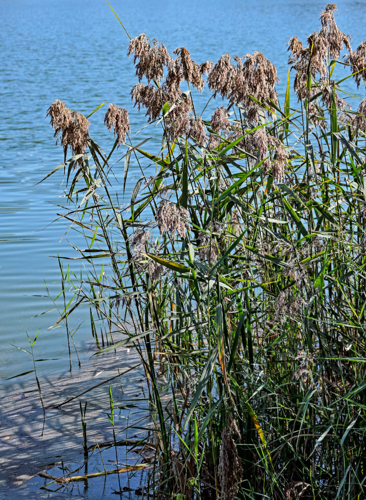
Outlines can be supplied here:
<path id="1" fill-rule="evenodd" d="M 55 129 L 54 136 L 58 137 L 61 133 L 61 144 L 64 147 L 65 156 L 68 146 L 73 154 L 85 153 L 88 146 L 90 121 L 83 114 L 72 111 L 62 100 L 55 100 L 48 108 L 46 116 L 50 116 L 50 123 Z"/>

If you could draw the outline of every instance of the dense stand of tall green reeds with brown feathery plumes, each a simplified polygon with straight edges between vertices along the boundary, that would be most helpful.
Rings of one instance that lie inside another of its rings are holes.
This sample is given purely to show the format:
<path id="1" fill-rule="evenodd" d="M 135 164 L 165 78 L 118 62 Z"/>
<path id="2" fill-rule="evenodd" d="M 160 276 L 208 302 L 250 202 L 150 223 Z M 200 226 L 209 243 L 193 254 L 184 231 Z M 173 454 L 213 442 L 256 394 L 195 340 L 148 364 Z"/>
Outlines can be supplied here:
<path id="1" fill-rule="evenodd" d="M 341 85 L 363 88 L 366 42 L 352 50 L 335 10 L 289 40 L 282 104 L 260 52 L 198 64 L 130 39 L 131 97 L 160 150 L 131 142 L 123 107 L 105 115 L 109 152 L 89 117 L 49 108 L 88 268 L 69 272 L 59 321 L 87 306 L 96 352 L 141 357 L 157 449 L 145 496 L 365 498 L 366 101 L 352 110 Z M 198 92 L 223 97 L 211 118 Z"/>

